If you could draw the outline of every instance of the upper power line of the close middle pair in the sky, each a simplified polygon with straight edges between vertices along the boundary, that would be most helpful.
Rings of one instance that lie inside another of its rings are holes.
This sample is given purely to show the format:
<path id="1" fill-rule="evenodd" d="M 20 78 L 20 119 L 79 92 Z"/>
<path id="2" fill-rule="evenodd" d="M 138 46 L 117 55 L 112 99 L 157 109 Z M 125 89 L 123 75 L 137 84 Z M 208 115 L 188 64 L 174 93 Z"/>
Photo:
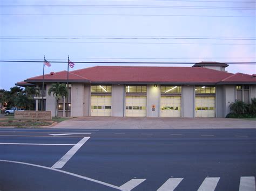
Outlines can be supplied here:
<path id="1" fill-rule="evenodd" d="M 256 38 L 182 38 L 182 37 L 0 37 L 0 39 L 183 39 L 183 40 L 256 40 Z"/>

